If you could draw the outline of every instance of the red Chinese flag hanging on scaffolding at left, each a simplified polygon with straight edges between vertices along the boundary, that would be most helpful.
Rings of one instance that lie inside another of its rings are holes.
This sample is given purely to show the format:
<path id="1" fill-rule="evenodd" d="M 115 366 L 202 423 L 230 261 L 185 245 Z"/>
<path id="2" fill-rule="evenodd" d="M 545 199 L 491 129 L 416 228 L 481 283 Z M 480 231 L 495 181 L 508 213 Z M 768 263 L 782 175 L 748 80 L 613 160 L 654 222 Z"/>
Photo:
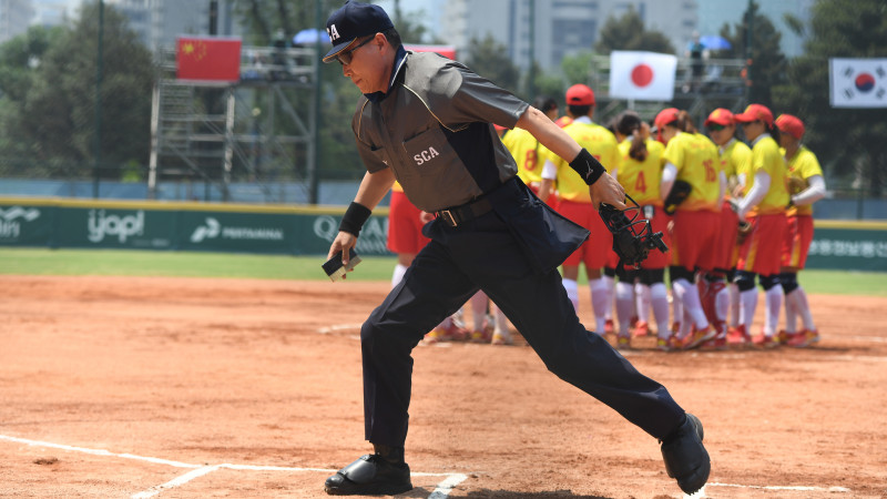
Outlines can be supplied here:
<path id="1" fill-rule="evenodd" d="M 180 38 L 175 62 L 180 80 L 237 81 L 241 79 L 241 39 Z"/>

